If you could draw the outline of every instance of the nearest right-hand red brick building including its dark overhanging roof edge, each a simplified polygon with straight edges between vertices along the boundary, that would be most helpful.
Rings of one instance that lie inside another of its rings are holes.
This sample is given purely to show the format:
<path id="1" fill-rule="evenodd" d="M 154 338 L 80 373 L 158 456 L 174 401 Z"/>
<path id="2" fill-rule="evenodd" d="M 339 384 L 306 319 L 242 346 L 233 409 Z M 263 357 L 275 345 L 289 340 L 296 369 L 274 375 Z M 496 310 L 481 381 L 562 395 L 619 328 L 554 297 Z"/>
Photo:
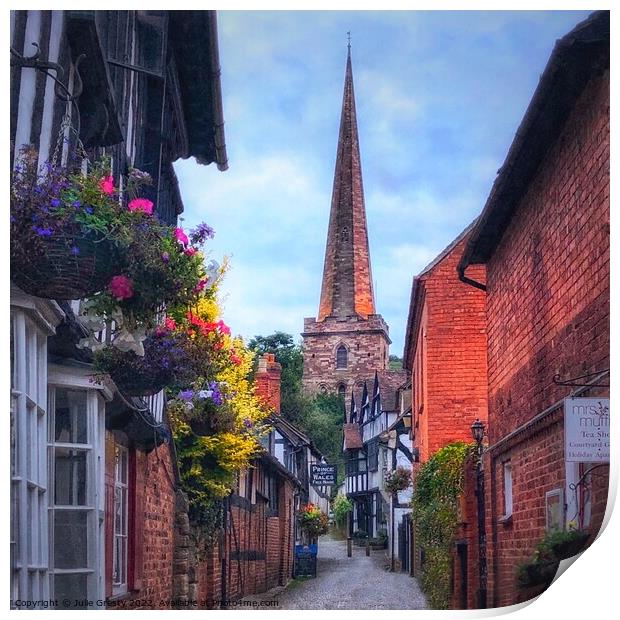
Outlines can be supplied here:
<path id="1" fill-rule="evenodd" d="M 564 399 L 609 395 L 608 12 L 556 44 L 459 273 L 471 282 L 480 265 L 487 604 L 500 607 L 531 596 L 517 587 L 517 566 L 545 532 L 594 536 L 607 500 L 608 465 L 588 475 L 591 464 L 567 461 Z"/>

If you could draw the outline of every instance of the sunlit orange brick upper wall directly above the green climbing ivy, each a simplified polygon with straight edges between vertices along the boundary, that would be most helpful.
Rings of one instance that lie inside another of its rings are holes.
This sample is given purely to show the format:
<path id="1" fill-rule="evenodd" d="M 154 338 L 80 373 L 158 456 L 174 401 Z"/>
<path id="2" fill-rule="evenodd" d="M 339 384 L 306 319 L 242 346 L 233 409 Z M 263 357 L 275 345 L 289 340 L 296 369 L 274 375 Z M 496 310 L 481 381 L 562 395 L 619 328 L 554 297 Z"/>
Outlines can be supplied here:
<path id="1" fill-rule="evenodd" d="M 411 335 L 414 448 L 425 462 L 454 441 L 472 441 L 487 419 L 485 294 L 458 279 L 467 235 L 418 281 L 418 329 Z M 484 282 L 485 268 L 468 276 Z"/>

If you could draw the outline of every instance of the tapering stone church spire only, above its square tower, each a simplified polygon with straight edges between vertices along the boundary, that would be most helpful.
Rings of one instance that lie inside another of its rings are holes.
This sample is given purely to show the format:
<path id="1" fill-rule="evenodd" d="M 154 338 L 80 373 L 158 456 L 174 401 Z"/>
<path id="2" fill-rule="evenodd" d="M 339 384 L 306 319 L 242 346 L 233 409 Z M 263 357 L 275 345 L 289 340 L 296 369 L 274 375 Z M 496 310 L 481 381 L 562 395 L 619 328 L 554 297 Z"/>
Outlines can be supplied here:
<path id="1" fill-rule="evenodd" d="M 351 45 L 344 80 L 340 134 L 334 173 L 318 321 L 375 314 L 362 165 L 360 160 Z"/>

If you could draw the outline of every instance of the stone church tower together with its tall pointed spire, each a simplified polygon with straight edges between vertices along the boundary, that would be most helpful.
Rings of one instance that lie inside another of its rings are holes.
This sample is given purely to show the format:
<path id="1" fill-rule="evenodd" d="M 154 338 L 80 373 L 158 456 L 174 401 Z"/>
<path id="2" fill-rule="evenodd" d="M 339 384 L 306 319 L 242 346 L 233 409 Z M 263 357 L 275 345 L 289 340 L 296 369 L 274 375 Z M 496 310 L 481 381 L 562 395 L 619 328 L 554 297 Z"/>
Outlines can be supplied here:
<path id="1" fill-rule="evenodd" d="M 388 331 L 375 310 L 349 46 L 319 314 L 302 333 L 304 390 L 349 395 L 387 369 Z"/>

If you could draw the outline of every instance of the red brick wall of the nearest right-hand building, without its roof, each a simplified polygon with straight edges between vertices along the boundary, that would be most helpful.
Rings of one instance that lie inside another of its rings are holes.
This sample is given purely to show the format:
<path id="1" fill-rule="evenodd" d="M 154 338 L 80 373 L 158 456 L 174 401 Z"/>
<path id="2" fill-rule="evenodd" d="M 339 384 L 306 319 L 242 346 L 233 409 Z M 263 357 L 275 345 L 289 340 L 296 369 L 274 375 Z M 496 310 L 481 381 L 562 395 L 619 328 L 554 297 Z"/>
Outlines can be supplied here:
<path id="1" fill-rule="evenodd" d="M 501 606 L 522 596 L 516 567 L 544 535 L 545 493 L 565 489 L 561 399 L 570 388 L 553 377 L 609 368 L 608 72 L 590 81 L 550 146 L 487 264 L 487 285 L 491 445 L 559 405 L 489 457 L 489 604 Z M 513 515 L 498 523 L 507 459 Z M 592 531 L 605 498 L 603 484 L 593 498 Z"/>

